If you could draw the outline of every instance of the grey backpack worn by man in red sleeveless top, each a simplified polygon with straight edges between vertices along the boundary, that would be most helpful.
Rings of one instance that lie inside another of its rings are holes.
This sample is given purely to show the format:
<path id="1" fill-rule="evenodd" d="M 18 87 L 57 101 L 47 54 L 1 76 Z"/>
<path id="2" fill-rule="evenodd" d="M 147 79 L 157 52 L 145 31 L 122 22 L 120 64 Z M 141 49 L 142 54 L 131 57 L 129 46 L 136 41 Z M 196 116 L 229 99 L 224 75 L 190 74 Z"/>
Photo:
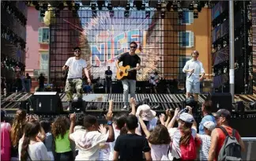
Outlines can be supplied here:
<path id="1" fill-rule="evenodd" d="M 218 160 L 242 160 L 241 146 L 235 138 L 235 129 L 232 129 L 232 136 L 229 136 L 224 127 L 220 126 L 219 128 L 226 135 L 226 138 L 220 148 Z"/>

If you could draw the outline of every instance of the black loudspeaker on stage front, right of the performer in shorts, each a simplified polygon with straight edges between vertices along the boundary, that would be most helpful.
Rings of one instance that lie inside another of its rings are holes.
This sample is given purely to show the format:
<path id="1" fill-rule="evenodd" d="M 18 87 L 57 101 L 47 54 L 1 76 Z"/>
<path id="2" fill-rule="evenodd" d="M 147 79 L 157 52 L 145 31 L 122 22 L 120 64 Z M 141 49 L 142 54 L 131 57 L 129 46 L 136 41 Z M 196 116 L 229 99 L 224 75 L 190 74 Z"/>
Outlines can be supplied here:
<path id="1" fill-rule="evenodd" d="M 230 93 L 210 93 L 206 100 L 212 100 L 212 111 L 226 109 L 232 112 L 232 95 Z"/>

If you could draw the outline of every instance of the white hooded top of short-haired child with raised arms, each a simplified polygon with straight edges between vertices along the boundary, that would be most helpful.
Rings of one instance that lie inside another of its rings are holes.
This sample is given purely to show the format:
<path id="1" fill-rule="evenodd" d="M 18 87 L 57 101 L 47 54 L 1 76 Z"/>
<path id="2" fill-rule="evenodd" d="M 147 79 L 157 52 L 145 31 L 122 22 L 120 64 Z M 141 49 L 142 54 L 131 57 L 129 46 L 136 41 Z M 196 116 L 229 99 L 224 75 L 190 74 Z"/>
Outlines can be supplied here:
<path id="1" fill-rule="evenodd" d="M 78 155 L 75 160 L 97 160 L 99 158 L 100 144 L 105 144 L 108 134 L 98 131 L 78 130 L 70 134 L 70 139 L 76 144 Z"/>

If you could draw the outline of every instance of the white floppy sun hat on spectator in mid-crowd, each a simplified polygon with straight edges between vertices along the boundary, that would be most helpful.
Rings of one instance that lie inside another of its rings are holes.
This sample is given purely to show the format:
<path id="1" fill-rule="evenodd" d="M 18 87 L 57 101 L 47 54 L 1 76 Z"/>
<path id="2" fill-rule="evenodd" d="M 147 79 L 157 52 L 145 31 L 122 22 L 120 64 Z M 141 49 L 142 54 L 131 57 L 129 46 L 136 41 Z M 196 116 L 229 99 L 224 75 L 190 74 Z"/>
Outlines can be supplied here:
<path id="1" fill-rule="evenodd" d="M 141 118 L 144 121 L 151 121 L 152 118 L 156 117 L 156 111 L 151 110 L 151 108 L 147 104 L 143 104 L 143 105 L 137 107 L 137 111 L 136 111 L 137 117 L 139 116 L 141 110 L 142 110 Z"/>

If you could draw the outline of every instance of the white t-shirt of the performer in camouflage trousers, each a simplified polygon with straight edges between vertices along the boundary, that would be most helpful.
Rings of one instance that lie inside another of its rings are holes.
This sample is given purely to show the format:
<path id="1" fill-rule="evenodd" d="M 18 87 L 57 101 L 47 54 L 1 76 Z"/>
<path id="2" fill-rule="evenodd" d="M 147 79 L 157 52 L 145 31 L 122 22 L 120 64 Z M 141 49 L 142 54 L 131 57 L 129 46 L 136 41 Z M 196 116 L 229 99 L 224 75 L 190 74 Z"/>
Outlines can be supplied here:
<path id="1" fill-rule="evenodd" d="M 82 78 L 82 72 L 83 69 L 87 67 L 87 64 L 85 62 L 85 59 L 80 58 L 79 60 L 76 60 L 75 57 L 71 57 L 66 61 L 66 66 L 69 66 L 69 73 L 68 73 L 68 79 L 69 78 Z"/>

